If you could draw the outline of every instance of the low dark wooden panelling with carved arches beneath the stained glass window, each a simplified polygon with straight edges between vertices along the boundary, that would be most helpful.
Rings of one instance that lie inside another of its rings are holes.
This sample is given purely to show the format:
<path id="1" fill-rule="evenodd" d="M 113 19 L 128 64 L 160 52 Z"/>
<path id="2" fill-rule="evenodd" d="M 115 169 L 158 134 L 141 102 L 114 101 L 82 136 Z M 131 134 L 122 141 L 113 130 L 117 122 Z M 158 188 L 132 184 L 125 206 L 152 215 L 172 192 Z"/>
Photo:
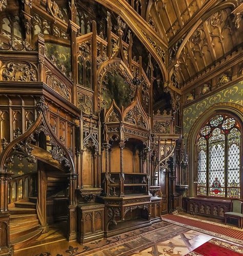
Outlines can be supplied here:
<path id="1" fill-rule="evenodd" d="M 183 209 L 187 213 L 224 219 L 225 212 L 230 211 L 230 200 L 214 198 L 183 198 Z"/>

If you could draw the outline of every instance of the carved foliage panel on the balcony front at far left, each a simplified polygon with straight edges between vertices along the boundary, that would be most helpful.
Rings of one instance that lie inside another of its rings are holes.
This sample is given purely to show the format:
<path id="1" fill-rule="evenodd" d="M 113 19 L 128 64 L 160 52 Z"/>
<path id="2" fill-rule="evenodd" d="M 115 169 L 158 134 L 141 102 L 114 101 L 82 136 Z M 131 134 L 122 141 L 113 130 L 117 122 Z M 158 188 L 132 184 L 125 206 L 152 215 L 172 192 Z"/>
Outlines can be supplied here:
<path id="1" fill-rule="evenodd" d="M 30 63 L 8 63 L 2 68 L 4 81 L 36 82 L 37 72 Z"/>

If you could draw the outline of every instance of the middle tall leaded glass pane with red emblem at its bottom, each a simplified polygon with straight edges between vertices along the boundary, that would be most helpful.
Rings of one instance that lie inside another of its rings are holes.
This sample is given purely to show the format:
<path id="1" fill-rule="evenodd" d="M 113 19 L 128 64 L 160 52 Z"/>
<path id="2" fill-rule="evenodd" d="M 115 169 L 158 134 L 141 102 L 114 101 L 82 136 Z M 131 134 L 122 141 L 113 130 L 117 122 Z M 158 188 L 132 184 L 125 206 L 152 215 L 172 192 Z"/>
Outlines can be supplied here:
<path id="1" fill-rule="evenodd" d="M 209 195 L 225 196 L 225 135 L 219 128 L 209 139 Z"/>

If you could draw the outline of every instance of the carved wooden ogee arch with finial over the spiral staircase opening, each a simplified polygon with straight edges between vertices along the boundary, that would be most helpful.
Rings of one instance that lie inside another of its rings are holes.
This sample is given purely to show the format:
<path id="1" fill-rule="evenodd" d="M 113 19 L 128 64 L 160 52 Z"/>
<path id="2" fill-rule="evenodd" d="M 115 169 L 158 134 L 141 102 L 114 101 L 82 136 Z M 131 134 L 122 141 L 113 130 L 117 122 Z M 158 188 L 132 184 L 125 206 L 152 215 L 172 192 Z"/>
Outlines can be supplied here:
<path id="1" fill-rule="evenodd" d="M 13 157 L 15 155 L 18 156 L 19 159 L 26 158 L 30 163 L 35 163 L 36 159 L 43 161 L 41 152 L 47 151 L 32 145 L 31 142 L 35 142 L 34 134 L 44 132 L 45 135 L 50 137 L 50 144 L 52 145 L 50 153 L 52 155 L 52 159 L 55 160 L 55 163 L 53 163 L 51 160 L 47 163 L 53 165 L 54 167 L 57 167 L 58 164 L 59 166 L 64 164 L 64 167 L 68 170 L 68 172 L 75 173 L 73 159 L 69 151 L 62 144 L 62 142 L 57 139 L 47 120 L 46 112 L 48 111 L 48 107 L 45 104 L 45 98 L 43 96 L 40 97 L 40 101 L 36 106 L 39 115 L 35 122 L 24 134 L 16 137 L 13 141 L 11 141 L 1 154 L 0 172 L 7 172 L 7 165 L 8 163 L 13 162 Z M 33 152 L 40 152 L 40 154 L 34 155 Z"/>

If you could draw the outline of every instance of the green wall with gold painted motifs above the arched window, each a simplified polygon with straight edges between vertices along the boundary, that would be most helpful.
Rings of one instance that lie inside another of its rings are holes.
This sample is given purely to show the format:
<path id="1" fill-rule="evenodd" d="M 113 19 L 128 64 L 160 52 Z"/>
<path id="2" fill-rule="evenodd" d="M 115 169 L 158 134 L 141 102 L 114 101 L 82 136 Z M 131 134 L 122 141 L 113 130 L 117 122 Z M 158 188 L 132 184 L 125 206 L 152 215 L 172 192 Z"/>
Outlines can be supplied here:
<path id="1" fill-rule="evenodd" d="M 187 141 L 188 133 L 198 116 L 215 103 L 220 102 L 232 102 L 243 106 L 243 81 L 184 108 L 183 132 L 185 141 Z"/>

